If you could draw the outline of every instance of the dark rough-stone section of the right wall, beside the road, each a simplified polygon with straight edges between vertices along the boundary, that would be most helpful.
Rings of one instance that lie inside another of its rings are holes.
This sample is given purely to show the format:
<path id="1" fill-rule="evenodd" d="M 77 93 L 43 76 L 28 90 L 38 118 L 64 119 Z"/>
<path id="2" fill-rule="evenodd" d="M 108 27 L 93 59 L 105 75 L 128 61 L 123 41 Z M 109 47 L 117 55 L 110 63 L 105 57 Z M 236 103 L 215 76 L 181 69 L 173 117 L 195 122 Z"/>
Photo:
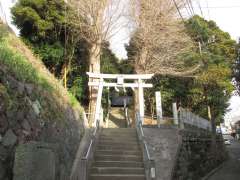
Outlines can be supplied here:
<path id="1" fill-rule="evenodd" d="M 227 152 L 221 136 L 217 147 L 212 148 L 211 135 L 194 131 L 180 131 L 182 144 L 179 148 L 173 180 L 200 180 L 227 159 Z"/>

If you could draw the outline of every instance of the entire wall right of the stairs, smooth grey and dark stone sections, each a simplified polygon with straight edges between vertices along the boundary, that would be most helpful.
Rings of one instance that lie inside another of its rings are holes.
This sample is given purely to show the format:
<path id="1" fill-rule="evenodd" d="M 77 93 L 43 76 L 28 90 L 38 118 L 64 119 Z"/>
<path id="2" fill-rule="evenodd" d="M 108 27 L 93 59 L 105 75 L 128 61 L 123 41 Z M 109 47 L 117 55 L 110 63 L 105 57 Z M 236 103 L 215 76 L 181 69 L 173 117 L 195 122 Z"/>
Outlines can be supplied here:
<path id="1" fill-rule="evenodd" d="M 144 128 L 151 157 L 156 163 L 156 180 L 199 180 L 227 158 L 221 137 L 216 151 L 211 135 L 178 128 Z"/>

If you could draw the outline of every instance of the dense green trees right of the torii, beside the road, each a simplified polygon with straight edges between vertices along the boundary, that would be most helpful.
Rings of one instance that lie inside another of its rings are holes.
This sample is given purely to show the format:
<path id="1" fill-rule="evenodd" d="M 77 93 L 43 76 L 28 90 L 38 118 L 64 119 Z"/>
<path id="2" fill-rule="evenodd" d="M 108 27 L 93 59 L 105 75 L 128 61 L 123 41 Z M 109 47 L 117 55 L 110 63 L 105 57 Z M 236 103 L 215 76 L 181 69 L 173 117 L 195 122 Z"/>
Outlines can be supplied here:
<path id="1" fill-rule="evenodd" d="M 171 113 L 172 102 L 177 102 L 179 106 L 189 108 L 205 118 L 208 118 L 209 106 L 212 117 L 221 122 L 234 90 L 232 77 L 236 42 L 215 22 L 199 16 L 190 18 L 185 26 L 195 49 L 181 55 L 181 58 L 185 58 L 187 64 L 201 61 L 201 68 L 190 77 L 156 75 L 153 78 L 154 88 L 146 96 L 154 96 L 154 91 L 161 90 L 163 107 L 165 106 L 165 113 L 168 115 Z M 151 101 L 150 104 L 154 99 L 148 101 Z"/>

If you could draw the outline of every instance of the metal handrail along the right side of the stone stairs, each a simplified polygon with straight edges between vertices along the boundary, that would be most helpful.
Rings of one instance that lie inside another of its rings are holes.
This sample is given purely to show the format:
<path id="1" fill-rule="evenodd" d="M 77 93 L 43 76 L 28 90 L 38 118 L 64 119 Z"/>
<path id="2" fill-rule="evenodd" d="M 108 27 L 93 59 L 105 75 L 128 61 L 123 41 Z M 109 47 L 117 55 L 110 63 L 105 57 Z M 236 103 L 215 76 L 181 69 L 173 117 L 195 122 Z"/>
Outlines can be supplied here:
<path id="1" fill-rule="evenodd" d="M 147 164 L 147 180 L 153 180 L 153 179 L 156 179 L 155 161 L 150 155 L 149 148 L 148 148 L 147 142 L 145 140 L 145 135 L 144 135 L 143 127 L 142 127 L 142 121 L 141 121 L 138 113 L 136 114 L 136 120 L 137 120 L 137 128 L 141 132 L 140 141 L 142 142 L 143 150 L 147 155 L 146 156 L 147 161 L 148 161 L 148 164 Z"/>

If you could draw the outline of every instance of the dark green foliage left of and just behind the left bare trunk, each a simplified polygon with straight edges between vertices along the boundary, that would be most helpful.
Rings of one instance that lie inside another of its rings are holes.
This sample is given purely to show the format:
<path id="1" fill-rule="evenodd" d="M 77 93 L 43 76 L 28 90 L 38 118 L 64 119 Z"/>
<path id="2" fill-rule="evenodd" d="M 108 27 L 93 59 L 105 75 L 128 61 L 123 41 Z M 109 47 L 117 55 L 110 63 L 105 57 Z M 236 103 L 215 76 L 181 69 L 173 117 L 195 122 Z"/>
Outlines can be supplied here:
<path id="1" fill-rule="evenodd" d="M 75 12 L 63 0 L 19 0 L 12 13 L 24 42 L 78 101 L 87 105 L 90 44 L 71 21 Z M 109 43 L 103 42 L 101 47 L 101 71 L 119 72 L 119 60 Z"/>

